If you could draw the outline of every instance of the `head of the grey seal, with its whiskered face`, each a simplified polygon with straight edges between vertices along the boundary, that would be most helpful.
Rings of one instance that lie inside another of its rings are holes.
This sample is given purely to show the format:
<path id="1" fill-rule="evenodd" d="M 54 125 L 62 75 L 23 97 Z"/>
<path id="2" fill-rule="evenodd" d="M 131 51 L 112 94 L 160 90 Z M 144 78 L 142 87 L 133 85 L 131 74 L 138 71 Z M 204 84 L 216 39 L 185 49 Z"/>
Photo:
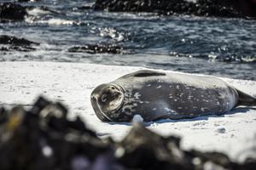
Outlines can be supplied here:
<path id="1" fill-rule="evenodd" d="M 104 122 L 117 121 L 117 113 L 124 104 L 124 99 L 123 89 L 109 83 L 96 87 L 90 94 L 90 102 L 96 116 Z"/>

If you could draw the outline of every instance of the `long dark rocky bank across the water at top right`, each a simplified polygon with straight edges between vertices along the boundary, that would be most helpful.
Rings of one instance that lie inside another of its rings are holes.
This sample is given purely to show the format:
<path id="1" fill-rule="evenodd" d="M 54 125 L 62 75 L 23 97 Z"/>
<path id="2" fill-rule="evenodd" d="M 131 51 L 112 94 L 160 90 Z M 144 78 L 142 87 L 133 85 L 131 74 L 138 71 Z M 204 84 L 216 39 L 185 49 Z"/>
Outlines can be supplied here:
<path id="1" fill-rule="evenodd" d="M 96 0 L 95 9 L 110 12 L 153 12 L 167 15 L 256 17 L 256 3 L 253 3 L 253 0 Z"/>

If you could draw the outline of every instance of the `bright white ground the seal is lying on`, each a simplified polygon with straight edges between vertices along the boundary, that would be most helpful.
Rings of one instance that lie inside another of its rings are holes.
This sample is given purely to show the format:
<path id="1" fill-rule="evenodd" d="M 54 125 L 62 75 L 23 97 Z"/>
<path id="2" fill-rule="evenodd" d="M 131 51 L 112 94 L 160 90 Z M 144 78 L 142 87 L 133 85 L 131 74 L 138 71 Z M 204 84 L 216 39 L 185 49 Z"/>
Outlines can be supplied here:
<path id="1" fill-rule="evenodd" d="M 90 105 L 90 92 L 103 82 L 142 68 L 54 62 L 1 62 L 0 68 L 0 106 L 31 105 L 38 94 L 44 94 L 48 99 L 66 104 L 70 112 L 83 116 L 99 136 L 122 139 L 131 128 L 131 123 L 106 123 L 97 119 Z M 224 80 L 256 96 L 256 82 Z M 181 136 L 184 149 L 224 151 L 242 161 L 247 155 L 256 155 L 249 151 L 256 148 L 255 109 L 239 108 L 229 115 L 192 120 L 148 122 L 145 126 L 163 135 Z"/>

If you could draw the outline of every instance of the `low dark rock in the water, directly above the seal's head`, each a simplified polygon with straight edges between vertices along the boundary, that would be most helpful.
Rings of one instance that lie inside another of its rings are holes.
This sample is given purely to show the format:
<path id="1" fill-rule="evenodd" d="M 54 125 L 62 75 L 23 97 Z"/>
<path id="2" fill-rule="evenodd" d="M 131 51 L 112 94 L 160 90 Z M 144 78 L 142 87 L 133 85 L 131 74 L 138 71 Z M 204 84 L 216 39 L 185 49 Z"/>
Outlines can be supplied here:
<path id="1" fill-rule="evenodd" d="M 124 48 L 121 48 L 114 44 L 96 44 L 96 45 L 84 45 L 69 48 L 68 52 L 72 53 L 88 53 L 88 54 L 125 54 Z"/>

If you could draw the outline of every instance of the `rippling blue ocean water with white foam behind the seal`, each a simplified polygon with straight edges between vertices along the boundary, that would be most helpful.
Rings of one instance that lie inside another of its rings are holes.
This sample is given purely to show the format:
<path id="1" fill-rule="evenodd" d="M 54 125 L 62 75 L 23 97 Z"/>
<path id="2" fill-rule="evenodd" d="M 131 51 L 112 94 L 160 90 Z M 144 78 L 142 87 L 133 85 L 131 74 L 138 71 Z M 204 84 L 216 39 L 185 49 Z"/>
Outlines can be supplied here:
<path id="1" fill-rule="evenodd" d="M 256 80 L 256 20 L 108 13 L 88 8 L 94 2 L 20 3 L 33 7 L 29 16 L 21 22 L 0 23 L 0 35 L 40 45 L 30 52 L 0 51 L 0 60 L 139 65 Z M 68 50 L 96 44 L 119 47 L 121 53 Z"/>

